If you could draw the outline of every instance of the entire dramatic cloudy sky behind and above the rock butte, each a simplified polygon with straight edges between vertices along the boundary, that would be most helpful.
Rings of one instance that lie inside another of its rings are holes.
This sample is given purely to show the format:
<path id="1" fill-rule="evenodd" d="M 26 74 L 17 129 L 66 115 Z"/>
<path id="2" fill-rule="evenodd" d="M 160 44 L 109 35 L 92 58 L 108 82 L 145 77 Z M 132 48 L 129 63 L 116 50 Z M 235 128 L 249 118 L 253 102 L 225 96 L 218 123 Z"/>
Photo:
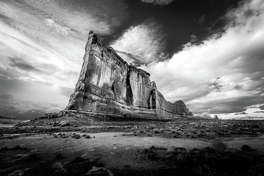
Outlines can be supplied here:
<path id="1" fill-rule="evenodd" d="M 264 116 L 264 0 L 0 0 L 0 114 L 65 109 L 90 30 L 193 114 Z"/>

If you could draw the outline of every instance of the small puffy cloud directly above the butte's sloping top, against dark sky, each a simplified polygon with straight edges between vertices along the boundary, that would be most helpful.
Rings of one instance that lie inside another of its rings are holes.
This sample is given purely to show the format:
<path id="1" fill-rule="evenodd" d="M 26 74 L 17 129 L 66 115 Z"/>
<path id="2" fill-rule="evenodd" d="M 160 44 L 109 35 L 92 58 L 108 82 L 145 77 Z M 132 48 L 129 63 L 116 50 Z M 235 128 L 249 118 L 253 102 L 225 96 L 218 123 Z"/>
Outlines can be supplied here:
<path id="1" fill-rule="evenodd" d="M 123 35 L 111 44 L 117 53 L 128 63 L 135 65 L 164 60 L 166 34 L 162 24 L 153 18 L 137 26 L 131 26 Z"/>

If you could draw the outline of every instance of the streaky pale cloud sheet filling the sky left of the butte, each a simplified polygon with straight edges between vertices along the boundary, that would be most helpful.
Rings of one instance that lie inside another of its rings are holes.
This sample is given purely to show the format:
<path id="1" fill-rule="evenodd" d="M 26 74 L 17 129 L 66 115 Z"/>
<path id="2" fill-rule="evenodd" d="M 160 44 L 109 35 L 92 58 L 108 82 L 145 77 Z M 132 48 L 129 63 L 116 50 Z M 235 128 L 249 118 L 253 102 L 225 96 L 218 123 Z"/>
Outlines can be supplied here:
<path id="1" fill-rule="evenodd" d="M 125 1 L 0 1 L 0 88 L 13 97 L 0 114 L 64 109 L 89 30 L 110 35 L 127 16 Z"/>

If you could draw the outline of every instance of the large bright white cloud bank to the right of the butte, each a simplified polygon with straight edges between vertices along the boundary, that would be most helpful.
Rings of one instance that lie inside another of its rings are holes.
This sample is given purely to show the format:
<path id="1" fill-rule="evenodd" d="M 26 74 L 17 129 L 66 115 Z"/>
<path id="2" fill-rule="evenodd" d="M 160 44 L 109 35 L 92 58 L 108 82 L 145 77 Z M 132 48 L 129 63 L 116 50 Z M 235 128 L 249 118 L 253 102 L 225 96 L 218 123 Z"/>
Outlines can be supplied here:
<path id="1" fill-rule="evenodd" d="M 224 33 L 141 67 L 169 101 L 182 99 L 198 114 L 241 112 L 263 103 L 264 2 L 243 1 L 225 19 Z"/>

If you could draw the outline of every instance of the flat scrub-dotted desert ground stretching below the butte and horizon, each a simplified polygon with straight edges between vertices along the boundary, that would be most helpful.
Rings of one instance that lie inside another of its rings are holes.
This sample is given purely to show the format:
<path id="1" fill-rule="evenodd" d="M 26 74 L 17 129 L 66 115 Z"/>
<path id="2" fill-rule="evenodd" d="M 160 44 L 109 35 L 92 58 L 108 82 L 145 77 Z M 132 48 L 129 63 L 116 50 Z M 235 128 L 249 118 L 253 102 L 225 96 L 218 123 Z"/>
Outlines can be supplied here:
<path id="1" fill-rule="evenodd" d="M 47 125 L 51 119 L 1 125 L 0 175 L 264 173 L 263 120 L 57 120 L 67 126 Z"/>

